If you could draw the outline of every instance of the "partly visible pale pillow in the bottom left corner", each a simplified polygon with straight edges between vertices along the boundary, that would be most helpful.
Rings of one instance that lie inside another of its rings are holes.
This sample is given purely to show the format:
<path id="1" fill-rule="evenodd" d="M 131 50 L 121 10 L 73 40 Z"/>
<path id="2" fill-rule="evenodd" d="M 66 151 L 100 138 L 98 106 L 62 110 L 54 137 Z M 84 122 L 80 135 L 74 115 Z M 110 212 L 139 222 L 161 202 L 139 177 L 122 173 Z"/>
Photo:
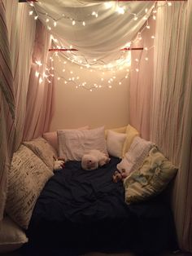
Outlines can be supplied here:
<path id="1" fill-rule="evenodd" d="M 23 230 L 8 216 L 0 222 L 0 254 L 19 249 L 28 238 Z"/>

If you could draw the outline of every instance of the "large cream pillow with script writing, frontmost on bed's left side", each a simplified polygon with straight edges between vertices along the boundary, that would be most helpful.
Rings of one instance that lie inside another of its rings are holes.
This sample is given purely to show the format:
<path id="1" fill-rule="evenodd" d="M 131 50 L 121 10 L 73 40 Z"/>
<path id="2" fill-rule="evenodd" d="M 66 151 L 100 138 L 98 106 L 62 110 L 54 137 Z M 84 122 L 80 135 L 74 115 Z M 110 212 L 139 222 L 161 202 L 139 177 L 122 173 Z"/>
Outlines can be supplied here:
<path id="1" fill-rule="evenodd" d="M 8 175 L 6 212 L 20 227 L 27 228 L 33 207 L 53 172 L 29 148 L 14 153 Z"/>

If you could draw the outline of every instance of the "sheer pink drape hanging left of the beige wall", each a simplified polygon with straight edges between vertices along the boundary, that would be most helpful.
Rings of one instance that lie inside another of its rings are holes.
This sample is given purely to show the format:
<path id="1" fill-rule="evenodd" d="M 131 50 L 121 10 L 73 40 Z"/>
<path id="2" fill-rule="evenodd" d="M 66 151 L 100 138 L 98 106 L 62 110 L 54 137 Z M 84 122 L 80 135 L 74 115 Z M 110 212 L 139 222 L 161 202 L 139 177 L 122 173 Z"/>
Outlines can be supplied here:
<path id="1" fill-rule="evenodd" d="M 50 82 L 48 82 L 43 76 L 46 68 L 50 68 L 49 47 L 50 33 L 40 21 L 37 21 L 33 63 L 28 85 L 24 140 L 36 138 L 49 130 L 53 113 L 54 79 L 50 76 Z M 41 61 L 41 66 L 38 66 L 36 61 Z"/>

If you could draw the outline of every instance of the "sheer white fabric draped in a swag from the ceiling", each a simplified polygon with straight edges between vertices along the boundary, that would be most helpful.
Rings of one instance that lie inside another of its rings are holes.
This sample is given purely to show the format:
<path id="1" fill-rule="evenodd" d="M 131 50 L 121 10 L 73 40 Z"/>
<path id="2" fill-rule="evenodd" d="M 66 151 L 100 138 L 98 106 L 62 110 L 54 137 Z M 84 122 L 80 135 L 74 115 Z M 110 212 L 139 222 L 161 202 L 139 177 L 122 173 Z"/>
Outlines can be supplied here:
<path id="1" fill-rule="evenodd" d="M 107 7 L 104 1 L 41 0 L 34 6 L 38 18 L 59 41 L 57 45 L 78 50 L 66 56 L 82 64 L 93 64 L 96 59 L 93 67 L 98 67 L 120 59 L 120 49 L 133 40 L 154 7 L 154 2 L 110 3 Z M 124 15 L 116 11 L 118 7 L 124 7 Z"/>

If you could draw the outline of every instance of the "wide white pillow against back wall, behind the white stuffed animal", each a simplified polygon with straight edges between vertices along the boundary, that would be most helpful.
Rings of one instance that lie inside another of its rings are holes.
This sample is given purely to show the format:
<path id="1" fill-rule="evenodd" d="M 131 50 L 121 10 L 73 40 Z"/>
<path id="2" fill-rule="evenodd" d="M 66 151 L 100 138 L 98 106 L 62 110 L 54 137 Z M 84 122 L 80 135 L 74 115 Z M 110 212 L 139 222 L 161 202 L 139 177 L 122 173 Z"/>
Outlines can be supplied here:
<path id="1" fill-rule="evenodd" d="M 59 157 L 66 161 L 81 161 L 83 155 L 91 149 L 107 154 L 104 126 L 93 130 L 57 130 Z"/>

